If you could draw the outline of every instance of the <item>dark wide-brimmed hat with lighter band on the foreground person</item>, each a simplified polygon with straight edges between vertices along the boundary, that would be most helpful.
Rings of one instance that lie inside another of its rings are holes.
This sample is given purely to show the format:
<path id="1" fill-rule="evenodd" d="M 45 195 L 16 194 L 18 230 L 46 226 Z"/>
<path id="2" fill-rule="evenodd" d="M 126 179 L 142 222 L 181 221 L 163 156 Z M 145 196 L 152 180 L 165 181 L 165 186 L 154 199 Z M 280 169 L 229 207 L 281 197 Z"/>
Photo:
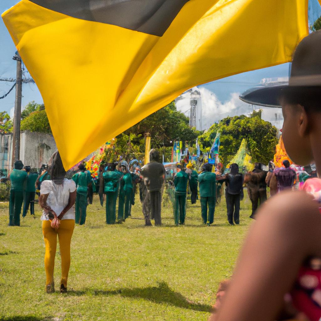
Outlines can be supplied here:
<path id="1" fill-rule="evenodd" d="M 278 107 L 282 91 L 320 87 L 321 89 L 321 30 L 302 39 L 296 48 L 289 82 L 275 82 L 250 88 L 239 99 L 251 105 Z"/>

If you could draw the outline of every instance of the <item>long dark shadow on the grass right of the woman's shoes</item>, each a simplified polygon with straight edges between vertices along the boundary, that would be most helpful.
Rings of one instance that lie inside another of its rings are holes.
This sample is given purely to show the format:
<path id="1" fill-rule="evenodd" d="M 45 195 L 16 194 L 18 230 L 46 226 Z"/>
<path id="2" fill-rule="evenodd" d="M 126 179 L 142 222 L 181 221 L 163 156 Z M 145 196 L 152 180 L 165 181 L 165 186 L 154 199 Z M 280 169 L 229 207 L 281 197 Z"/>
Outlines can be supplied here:
<path id="1" fill-rule="evenodd" d="M 211 312 L 212 307 L 206 304 L 199 304 L 187 300 L 183 295 L 171 290 L 166 282 L 160 282 L 158 287 L 150 286 L 146 288 L 121 288 L 114 291 L 101 291 L 87 289 L 84 291 L 68 291 L 69 295 L 81 296 L 86 294 L 92 295 L 120 295 L 126 298 L 142 298 L 154 303 L 167 303 L 178 308 L 191 309 L 195 311 Z"/>

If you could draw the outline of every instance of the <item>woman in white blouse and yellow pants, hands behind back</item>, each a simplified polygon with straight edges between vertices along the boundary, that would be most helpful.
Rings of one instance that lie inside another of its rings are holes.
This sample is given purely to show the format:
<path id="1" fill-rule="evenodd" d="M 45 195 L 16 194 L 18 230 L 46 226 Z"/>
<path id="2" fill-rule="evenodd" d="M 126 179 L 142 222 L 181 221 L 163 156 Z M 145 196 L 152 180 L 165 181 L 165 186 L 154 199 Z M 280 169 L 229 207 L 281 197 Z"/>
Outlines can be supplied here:
<path id="1" fill-rule="evenodd" d="M 46 246 L 46 292 L 55 291 L 54 266 L 57 236 L 61 256 L 60 292 L 66 292 L 70 268 L 70 242 L 75 226 L 73 205 L 76 199 L 76 185 L 72 179 L 65 178 L 66 172 L 58 151 L 49 161 L 48 173 L 51 180 L 42 182 L 39 197 L 39 205 L 43 208 L 42 233 Z"/>

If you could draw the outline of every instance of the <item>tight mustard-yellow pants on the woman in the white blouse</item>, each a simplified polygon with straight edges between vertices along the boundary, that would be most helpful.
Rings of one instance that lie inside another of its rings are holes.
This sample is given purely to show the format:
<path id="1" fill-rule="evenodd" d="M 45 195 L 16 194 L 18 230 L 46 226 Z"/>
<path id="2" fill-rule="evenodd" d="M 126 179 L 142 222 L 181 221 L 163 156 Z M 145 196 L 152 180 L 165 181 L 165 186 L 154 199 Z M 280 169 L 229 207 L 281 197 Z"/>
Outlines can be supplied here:
<path id="1" fill-rule="evenodd" d="M 57 235 L 61 256 L 61 281 L 67 288 L 68 273 L 70 268 L 70 242 L 74 232 L 74 220 L 62 220 L 58 230 L 51 227 L 50 221 L 42 221 L 42 233 L 45 240 L 45 270 L 46 285 L 54 284 L 54 267 L 57 247 Z"/>

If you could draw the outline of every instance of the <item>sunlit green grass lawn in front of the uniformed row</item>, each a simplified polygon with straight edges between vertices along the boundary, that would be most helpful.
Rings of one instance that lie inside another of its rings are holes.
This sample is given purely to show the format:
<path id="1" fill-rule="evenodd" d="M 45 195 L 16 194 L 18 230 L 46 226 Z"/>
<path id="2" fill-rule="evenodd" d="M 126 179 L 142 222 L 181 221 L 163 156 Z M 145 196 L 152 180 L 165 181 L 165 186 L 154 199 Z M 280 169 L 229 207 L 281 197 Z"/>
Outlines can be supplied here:
<path id="1" fill-rule="evenodd" d="M 35 219 L 28 214 L 20 227 L 9 227 L 9 203 L 1 203 L 0 320 L 207 320 L 218 284 L 230 277 L 251 223 L 244 191 L 240 225 L 229 226 L 222 197 L 210 227 L 202 225 L 199 201 L 189 200 L 185 226 L 174 226 L 167 203 L 163 226 L 144 227 L 138 195 L 132 218 L 106 225 L 95 195 L 86 224 L 74 230 L 67 294 L 45 293 L 39 205 Z M 56 289 L 59 280 L 57 247 Z"/>

